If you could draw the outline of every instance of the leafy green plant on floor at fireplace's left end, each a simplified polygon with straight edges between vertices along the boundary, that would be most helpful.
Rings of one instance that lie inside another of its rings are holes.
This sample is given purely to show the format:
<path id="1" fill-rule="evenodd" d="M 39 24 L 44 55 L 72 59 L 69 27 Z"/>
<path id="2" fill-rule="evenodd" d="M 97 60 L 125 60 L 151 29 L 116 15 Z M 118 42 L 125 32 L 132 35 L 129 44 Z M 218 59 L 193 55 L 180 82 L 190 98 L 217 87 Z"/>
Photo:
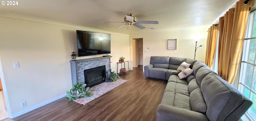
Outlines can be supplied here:
<path id="1" fill-rule="evenodd" d="M 92 96 L 92 94 L 89 91 L 90 87 L 86 87 L 86 84 L 82 84 L 81 82 L 76 83 L 75 85 L 73 85 L 72 89 L 70 89 L 70 91 L 67 91 L 66 94 L 66 99 L 68 101 L 74 101 L 75 99 L 78 98 L 83 98 L 84 96 L 90 97 Z M 74 95 L 74 91 L 77 92 L 76 95 Z M 85 93 L 85 95 L 84 95 Z"/>

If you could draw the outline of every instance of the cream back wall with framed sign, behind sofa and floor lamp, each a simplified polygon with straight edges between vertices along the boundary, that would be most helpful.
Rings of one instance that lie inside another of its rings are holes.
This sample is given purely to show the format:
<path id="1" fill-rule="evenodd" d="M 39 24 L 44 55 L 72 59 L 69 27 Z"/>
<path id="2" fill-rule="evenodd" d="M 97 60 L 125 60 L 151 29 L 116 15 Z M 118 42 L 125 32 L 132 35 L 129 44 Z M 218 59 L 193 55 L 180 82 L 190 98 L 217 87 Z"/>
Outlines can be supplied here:
<path id="1" fill-rule="evenodd" d="M 132 41 L 133 38 L 143 38 L 143 65 L 148 65 L 150 56 L 172 56 L 194 59 L 196 46 L 194 39 L 199 38 L 197 46 L 200 46 L 202 43 L 204 43 L 204 45 L 196 51 L 196 60 L 204 62 L 207 30 L 207 26 L 180 28 L 176 30 L 166 30 L 165 32 L 158 31 L 157 29 L 146 30 L 141 33 L 130 34 L 130 41 Z M 177 39 L 177 50 L 167 50 L 168 39 Z M 130 45 L 132 46 L 132 42 L 130 42 Z"/>

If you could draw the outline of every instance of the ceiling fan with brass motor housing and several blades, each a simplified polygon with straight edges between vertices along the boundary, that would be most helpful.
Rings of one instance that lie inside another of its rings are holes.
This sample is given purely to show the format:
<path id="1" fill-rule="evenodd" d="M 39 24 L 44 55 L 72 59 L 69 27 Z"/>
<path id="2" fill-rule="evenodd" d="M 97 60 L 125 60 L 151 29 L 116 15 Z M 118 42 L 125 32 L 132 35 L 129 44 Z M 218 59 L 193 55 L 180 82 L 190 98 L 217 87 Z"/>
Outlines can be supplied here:
<path id="1" fill-rule="evenodd" d="M 119 22 L 119 23 L 125 23 L 125 24 L 118 26 L 117 28 L 121 28 L 125 25 L 128 25 L 128 26 L 136 26 L 137 28 L 144 29 L 146 27 L 140 24 L 158 24 L 158 21 L 137 21 L 136 17 L 133 17 L 133 14 L 127 14 L 127 16 L 124 17 L 124 22 Z"/>

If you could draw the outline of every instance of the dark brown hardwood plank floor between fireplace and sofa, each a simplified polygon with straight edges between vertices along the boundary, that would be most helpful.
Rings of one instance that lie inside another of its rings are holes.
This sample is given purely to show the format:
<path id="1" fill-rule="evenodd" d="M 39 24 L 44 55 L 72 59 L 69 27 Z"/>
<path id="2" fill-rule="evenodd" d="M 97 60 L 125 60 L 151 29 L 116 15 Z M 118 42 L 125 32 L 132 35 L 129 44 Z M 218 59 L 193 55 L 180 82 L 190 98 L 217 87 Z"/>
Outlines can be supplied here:
<path id="1" fill-rule="evenodd" d="M 86 105 L 63 97 L 4 121 L 155 121 L 167 81 L 144 77 L 142 67 L 122 74 L 128 81 Z"/>

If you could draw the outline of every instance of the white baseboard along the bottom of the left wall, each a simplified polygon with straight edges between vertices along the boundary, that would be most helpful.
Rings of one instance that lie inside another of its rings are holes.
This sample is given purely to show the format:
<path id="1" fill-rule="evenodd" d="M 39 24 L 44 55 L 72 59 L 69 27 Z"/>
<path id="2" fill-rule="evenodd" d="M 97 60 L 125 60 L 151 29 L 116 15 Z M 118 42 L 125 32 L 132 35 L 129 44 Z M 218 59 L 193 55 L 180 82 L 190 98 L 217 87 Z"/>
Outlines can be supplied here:
<path id="1" fill-rule="evenodd" d="M 47 104 L 49 104 L 49 103 L 51 103 L 51 102 L 53 102 L 53 101 L 56 101 L 56 100 L 58 100 L 58 99 L 60 99 L 60 98 L 62 98 L 62 97 L 65 97 L 65 96 L 66 96 L 66 94 L 60 95 L 60 96 L 58 96 L 58 97 L 55 97 L 54 99 L 50 99 L 50 100 L 48 100 L 48 101 L 46 101 L 46 102 L 44 102 L 44 103 L 41 103 L 41 104 L 36 105 L 36 106 L 34 106 L 34 107 L 30 107 L 29 109 L 26 109 L 26 110 L 21 111 L 21 112 L 19 112 L 19 113 L 15 113 L 15 114 L 13 114 L 13 115 L 9 115 L 9 118 L 10 118 L 10 119 L 13 119 L 13 118 L 15 118 L 15 117 L 18 117 L 18 116 L 20 116 L 20 115 L 23 115 L 23 114 L 25 114 L 25 113 L 28 113 L 28 112 L 30 112 L 30 111 L 33 111 L 34 109 L 37 109 L 37 108 L 42 107 L 42 106 L 44 106 L 44 105 L 47 105 Z"/>

